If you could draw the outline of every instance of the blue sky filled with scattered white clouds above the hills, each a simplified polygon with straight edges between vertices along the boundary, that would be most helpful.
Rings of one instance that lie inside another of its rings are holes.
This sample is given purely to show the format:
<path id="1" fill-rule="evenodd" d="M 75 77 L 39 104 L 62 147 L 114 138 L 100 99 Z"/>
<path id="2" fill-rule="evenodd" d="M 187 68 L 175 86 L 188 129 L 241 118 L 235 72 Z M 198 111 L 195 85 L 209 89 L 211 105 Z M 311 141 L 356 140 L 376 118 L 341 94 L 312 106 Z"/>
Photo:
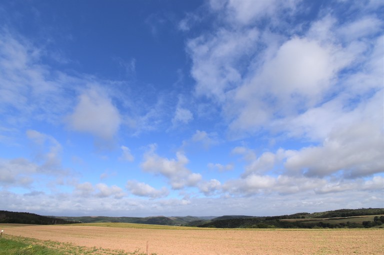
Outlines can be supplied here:
<path id="1" fill-rule="evenodd" d="M 0 1 L 0 205 L 384 207 L 379 0 Z"/>

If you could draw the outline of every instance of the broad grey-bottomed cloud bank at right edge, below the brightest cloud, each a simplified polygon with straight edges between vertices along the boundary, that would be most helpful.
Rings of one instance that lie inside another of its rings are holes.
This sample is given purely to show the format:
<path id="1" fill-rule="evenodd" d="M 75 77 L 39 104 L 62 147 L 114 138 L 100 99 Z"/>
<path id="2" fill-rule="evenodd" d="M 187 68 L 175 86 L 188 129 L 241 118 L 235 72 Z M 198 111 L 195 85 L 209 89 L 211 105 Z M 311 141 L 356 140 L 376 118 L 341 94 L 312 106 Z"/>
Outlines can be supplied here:
<path id="1" fill-rule="evenodd" d="M 352 110 L 342 109 L 339 104 L 330 102 L 290 122 L 285 120 L 281 125 L 289 131 L 289 136 L 306 137 L 319 144 L 297 150 L 280 148 L 275 153 L 265 152 L 258 157 L 252 150 L 236 147 L 232 153 L 244 155 L 248 161 L 242 177 L 271 170 L 288 176 L 318 178 L 339 175 L 342 178 L 359 178 L 382 173 L 382 102 L 382 91 L 378 91 Z"/>

